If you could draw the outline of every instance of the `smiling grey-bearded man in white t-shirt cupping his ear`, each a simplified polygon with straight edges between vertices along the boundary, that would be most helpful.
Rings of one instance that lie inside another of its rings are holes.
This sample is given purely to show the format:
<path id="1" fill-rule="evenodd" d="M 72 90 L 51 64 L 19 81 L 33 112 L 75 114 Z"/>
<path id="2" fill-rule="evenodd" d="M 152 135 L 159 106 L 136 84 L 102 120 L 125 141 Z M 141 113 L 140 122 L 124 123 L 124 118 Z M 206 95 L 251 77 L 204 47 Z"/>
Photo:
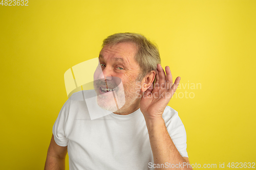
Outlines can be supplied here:
<path id="1" fill-rule="evenodd" d="M 167 106 L 180 77 L 173 83 L 157 47 L 140 34 L 114 34 L 102 46 L 94 90 L 74 93 L 63 105 L 45 169 L 65 169 L 67 152 L 70 169 L 191 169 L 185 128 Z M 76 100 L 81 92 L 97 98 Z M 100 109 L 111 114 L 90 119 L 89 110 Z"/>

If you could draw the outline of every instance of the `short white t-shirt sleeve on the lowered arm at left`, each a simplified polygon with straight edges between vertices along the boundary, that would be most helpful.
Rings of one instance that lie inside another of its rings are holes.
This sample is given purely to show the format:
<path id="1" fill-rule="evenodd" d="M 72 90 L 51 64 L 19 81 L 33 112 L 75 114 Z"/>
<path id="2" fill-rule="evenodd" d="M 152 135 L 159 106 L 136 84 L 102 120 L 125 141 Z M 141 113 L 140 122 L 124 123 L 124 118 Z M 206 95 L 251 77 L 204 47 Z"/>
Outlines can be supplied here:
<path id="1" fill-rule="evenodd" d="M 71 99 L 68 99 L 66 103 L 62 106 L 52 129 L 54 140 L 61 147 L 66 147 L 69 141 L 69 139 L 65 135 L 65 130 L 69 116 L 70 103 Z"/>

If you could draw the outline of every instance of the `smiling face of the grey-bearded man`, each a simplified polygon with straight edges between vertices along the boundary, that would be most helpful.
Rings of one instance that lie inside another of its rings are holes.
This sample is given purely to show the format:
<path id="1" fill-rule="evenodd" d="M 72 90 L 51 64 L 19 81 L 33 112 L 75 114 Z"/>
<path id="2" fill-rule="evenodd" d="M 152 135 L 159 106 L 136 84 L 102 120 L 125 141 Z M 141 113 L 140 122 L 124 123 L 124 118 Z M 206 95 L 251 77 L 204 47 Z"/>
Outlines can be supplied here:
<path id="1" fill-rule="evenodd" d="M 135 60 L 136 52 L 136 46 L 130 42 L 105 45 L 102 48 L 99 54 L 100 65 L 94 73 L 94 89 L 98 94 L 97 103 L 103 109 L 121 113 L 138 105 L 140 88 L 136 85 L 136 79 L 140 67 Z M 113 93 L 115 100 L 111 100 Z M 123 106 L 118 111 L 117 102 Z"/>

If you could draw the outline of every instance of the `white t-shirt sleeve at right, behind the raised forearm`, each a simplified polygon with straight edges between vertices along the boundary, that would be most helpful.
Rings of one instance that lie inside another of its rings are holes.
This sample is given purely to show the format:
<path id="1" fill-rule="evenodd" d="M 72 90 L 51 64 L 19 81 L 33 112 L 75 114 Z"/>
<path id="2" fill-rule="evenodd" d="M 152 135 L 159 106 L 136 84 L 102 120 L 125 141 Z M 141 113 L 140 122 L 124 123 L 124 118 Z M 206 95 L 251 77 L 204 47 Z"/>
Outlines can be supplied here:
<path id="1" fill-rule="evenodd" d="M 163 113 L 163 119 L 166 129 L 172 138 L 177 150 L 182 157 L 188 157 L 187 155 L 187 136 L 185 127 L 178 115 L 178 112 L 173 108 L 167 106 Z"/>

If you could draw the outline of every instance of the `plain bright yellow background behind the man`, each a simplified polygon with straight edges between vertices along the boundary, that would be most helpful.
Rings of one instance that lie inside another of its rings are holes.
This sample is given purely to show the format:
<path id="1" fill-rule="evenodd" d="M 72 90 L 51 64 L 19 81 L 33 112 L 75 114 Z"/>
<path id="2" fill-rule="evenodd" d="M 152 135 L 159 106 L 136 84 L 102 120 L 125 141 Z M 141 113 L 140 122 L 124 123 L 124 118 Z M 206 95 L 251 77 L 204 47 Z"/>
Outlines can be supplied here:
<path id="1" fill-rule="evenodd" d="M 256 1 L 28 5 L 0 5 L 1 169 L 43 169 L 68 99 L 64 72 L 97 57 L 102 40 L 118 32 L 145 35 L 184 86 L 201 84 L 177 90 L 193 99 L 169 103 L 186 128 L 190 163 L 256 162 Z"/>

